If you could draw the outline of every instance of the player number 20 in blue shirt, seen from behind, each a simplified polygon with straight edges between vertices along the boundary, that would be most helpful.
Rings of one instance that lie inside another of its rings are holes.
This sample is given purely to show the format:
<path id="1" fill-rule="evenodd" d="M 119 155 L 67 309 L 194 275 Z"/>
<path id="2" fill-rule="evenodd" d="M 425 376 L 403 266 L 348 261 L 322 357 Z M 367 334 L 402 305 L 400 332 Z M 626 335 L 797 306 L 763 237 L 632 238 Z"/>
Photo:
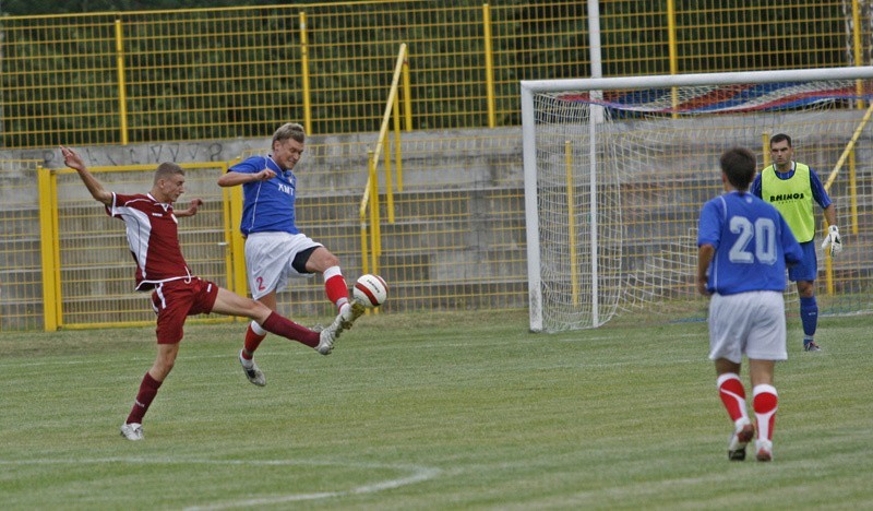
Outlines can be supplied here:
<path id="1" fill-rule="evenodd" d="M 742 357 L 749 358 L 752 408 L 757 423 L 755 453 L 773 459 L 773 427 L 778 395 L 773 385 L 776 360 L 786 350 L 786 264 L 803 252 L 776 209 L 749 193 L 755 177 L 755 156 L 744 147 L 720 158 L 722 195 L 701 211 L 697 230 L 697 290 L 709 296 L 709 359 L 715 360 L 716 385 L 733 420 L 729 460 L 744 460 L 755 433 L 740 380 Z"/>

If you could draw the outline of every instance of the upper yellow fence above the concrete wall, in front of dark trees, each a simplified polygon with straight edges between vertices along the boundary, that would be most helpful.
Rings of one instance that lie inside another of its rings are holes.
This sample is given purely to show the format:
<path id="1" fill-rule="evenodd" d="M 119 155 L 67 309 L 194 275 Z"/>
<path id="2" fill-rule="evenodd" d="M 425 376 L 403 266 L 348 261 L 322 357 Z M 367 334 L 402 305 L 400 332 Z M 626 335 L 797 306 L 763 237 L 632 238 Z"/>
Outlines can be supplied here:
<path id="1" fill-rule="evenodd" d="M 521 124 L 519 80 L 591 75 L 586 1 L 430 0 L 5 16 L 0 145 L 379 130 L 408 46 L 415 129 Z M 606 76 L 857 66 L 866 0 L 609 0 Z"/>

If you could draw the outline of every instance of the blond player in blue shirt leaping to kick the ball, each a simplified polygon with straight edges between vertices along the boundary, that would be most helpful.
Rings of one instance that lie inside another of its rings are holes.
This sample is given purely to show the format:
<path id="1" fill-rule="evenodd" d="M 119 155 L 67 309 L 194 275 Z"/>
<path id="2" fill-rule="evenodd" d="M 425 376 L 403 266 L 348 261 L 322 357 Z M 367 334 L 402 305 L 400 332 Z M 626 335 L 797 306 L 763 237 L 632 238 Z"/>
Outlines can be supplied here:
<path id="1" fill-rule="evenodd" d="M 339 259 L 297 228 L 294 167 L 303 155 L 304 144 L 302 126 L 283 124 L 273 134 L 271 154 L 252 156 L 235 165 L 218 179 L 218 186 L 242 186 L 240 231 L 246 238 L 246 268 L 252 298 L 275 311 L 276 293 L 287 287 L 289 277 L 320 273 L 327 299 L 337 308 L 332 329 L 338 334 L 351 328 L 364 308 L 349 299 Z M 266 384 L 266 379 L 253 356 L 265 336 L 266 330 L 252 321 L 239 353 L 246 377 L 259 387 Z"/>

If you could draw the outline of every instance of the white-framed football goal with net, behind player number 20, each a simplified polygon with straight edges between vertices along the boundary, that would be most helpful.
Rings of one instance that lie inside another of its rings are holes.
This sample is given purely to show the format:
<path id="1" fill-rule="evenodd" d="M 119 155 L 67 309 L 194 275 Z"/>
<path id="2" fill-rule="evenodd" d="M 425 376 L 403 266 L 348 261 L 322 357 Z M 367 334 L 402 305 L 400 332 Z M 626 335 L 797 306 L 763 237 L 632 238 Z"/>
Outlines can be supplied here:
<path id="1" fill-rule="evenodd" d="M 873 310 L 870 98 L 873 68 L 522 82 L 530 329 L 704 319 L 697 217 L 722 192 L 718 158 L 742 145 L 763 168 L 776 133 L 837 207 L 821 313 Z M 786 297 L 797 314 L 793 283 Z"/>

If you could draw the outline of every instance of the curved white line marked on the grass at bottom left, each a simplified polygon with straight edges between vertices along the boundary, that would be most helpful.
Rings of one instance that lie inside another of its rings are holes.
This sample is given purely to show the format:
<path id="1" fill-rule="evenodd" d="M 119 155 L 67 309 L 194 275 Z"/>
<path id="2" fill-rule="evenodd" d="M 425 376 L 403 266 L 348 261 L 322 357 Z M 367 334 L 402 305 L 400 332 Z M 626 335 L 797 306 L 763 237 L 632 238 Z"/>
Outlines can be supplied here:
<path id="1" fill-rule="evenodd" d="M 439 476 L 442 471 L 440 468 L 419 466 L 419 465 L 399 465 L 399 464 L 380 464 L 380 463 L 345 463 L 345 462 L 322 462 L 315 460 L 195 460 L 195 459 L 170 459 L 170 457 L 95 457 L 95 459 L 80 459 L 80 460 L 52 460 L 52 459 L 38 459 L 38 460 L 0 460 L 0 465 L 70 465 L 70 464 L 103 464 L 103 463 L 132 463 L 132 464 L 196 464 L 196 465 L 253 465 L 253 466 L 283 466 L 283 465 L 312 465 L 312 466 L 346 466 L 354 468 L 387 468 L 398 472 L 411 472 L 405 477 L 396 479 L 386 479 L 369 485 L 358 486 L 356 488 L 339 490 L 339 491 L 320 491 L 315 494 L 288 494 L 277 495 L 273 497 L 264 497 L 256 499 L 232 500 L 227 502 L 215 502 L 206 506 L 193 506 L 184 508 L 189 511 L 201 510 L 218 510 L 218 509 L 232 509 L 232 508 L 251 508 L 253 506 L 262 504 L 277 504 L 285 502 L 300 502 L 304 500 L 319 500 L 327 498 L 344 497 L 348 495 L 359 494 L 375 494 L 387 489 L 399 488 L 402 486 L 414 485 L 433 479 Z"/>

